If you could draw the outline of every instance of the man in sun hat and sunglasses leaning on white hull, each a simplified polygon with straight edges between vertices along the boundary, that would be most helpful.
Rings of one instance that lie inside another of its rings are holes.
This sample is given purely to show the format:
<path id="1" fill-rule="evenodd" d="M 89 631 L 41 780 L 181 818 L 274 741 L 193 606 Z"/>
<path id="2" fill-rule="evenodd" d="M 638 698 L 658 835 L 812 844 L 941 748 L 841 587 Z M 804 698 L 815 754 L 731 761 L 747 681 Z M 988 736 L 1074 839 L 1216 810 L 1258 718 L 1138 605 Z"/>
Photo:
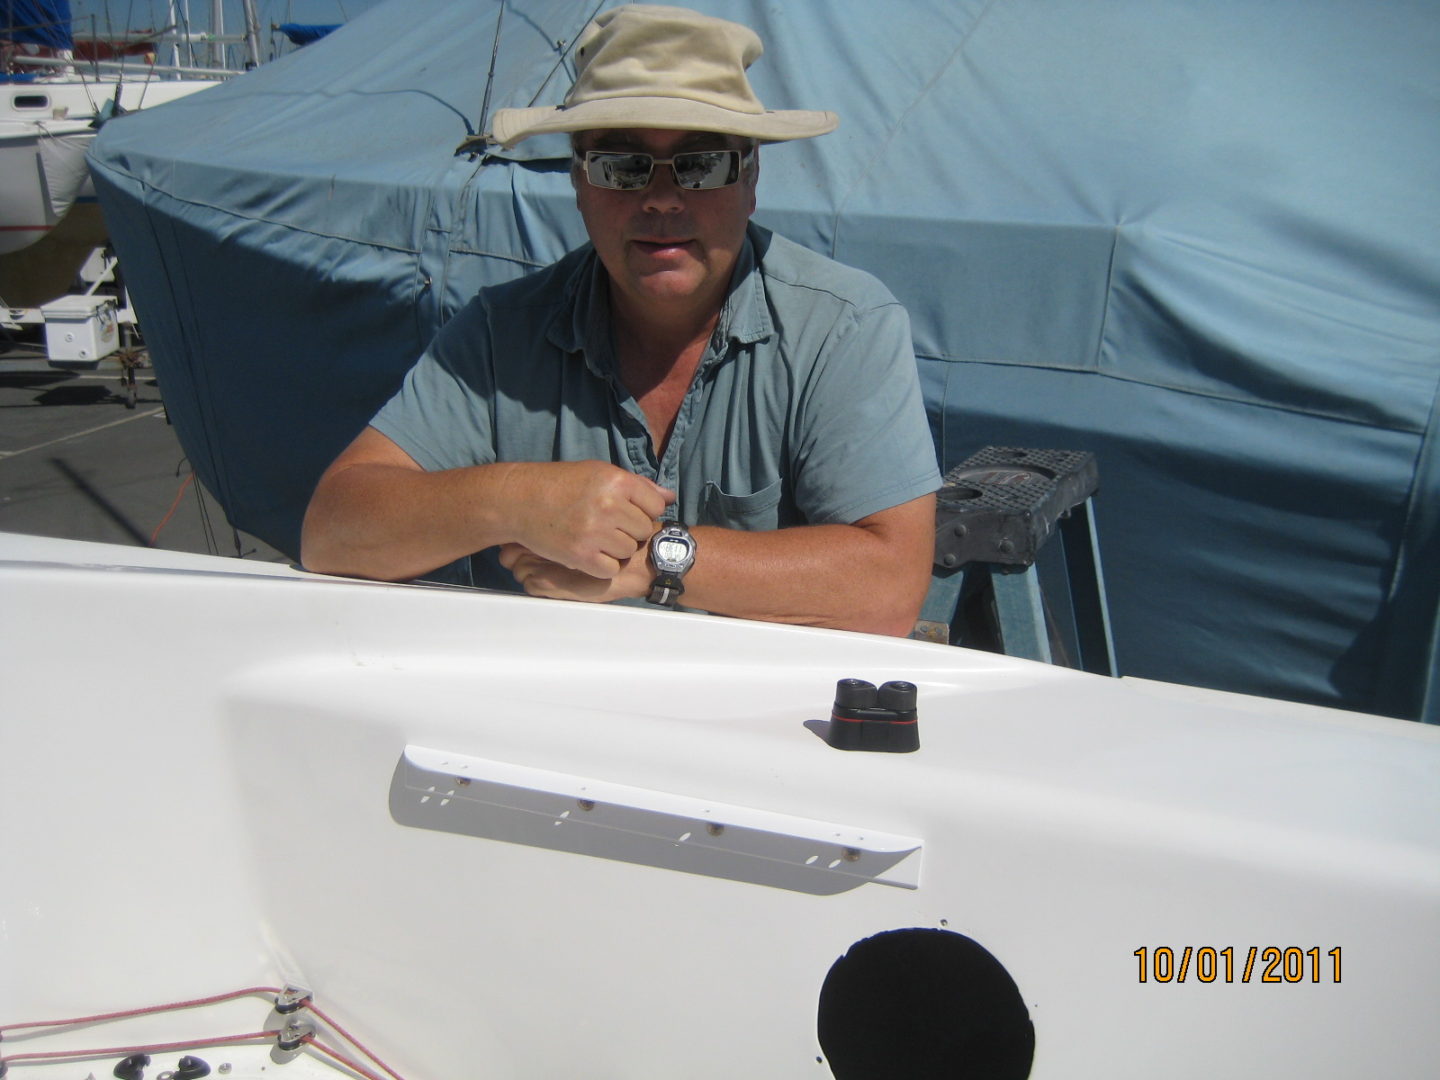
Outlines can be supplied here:
<path id="1" fill-rule="evenodd" d="M 759 37 L 677 7 L 600 14 L 560 108 L 590 245 L 481 291 L 321 477 L 312 570 L 472 580 L 904 635 L 939 474 L 904 310 L 877 281 L 750 225 L 759 144 L 829 112 L 766 111 Z"/>

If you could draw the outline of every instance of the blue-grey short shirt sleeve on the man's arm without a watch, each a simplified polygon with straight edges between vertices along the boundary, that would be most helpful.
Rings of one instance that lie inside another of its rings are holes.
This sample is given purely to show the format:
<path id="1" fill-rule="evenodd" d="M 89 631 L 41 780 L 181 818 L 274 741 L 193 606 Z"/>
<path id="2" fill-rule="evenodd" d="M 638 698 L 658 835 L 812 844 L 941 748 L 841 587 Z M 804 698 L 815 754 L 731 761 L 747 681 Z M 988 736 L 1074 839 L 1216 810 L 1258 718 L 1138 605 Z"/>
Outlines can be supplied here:
<path id="1" fill-rule="evenodd" d="M 426 471 L 495 461 L 491 336 L 471 301 L 435 336 L 370 426 Z"/>

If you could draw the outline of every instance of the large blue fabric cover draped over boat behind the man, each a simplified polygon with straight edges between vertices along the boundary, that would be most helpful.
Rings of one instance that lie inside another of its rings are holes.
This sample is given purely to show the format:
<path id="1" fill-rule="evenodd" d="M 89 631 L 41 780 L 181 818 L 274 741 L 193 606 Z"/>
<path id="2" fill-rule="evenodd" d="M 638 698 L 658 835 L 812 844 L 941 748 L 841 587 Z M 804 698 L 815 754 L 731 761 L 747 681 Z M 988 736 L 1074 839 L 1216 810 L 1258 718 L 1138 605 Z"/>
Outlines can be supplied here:
<path id="1" fill-rule="evenodd" d="M 556 104 L 596 0 L 393 0 L 124 117 L 92 167 L 166 402 L 295 553 L 477 288 L 583 240 Z M 753 26 L 757 220 L 909 307 L 942 465 L 1094 451 L 1123 672 L 1437 719 L 1440 7 L 698 0 Z"/>

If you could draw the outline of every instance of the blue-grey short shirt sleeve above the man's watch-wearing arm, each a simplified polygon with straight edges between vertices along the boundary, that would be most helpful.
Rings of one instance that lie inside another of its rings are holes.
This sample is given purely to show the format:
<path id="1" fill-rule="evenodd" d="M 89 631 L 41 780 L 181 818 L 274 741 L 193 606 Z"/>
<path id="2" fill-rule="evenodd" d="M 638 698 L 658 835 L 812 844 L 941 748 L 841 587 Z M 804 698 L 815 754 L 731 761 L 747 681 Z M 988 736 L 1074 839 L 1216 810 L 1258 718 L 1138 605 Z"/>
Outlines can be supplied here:
<path id="1" fill-rule="evenodd" d="M 805 384 L 793 468 L 796 505 L 815 524 L 851 524 L 940 487 L 899 302 L 837 320 Z"/>

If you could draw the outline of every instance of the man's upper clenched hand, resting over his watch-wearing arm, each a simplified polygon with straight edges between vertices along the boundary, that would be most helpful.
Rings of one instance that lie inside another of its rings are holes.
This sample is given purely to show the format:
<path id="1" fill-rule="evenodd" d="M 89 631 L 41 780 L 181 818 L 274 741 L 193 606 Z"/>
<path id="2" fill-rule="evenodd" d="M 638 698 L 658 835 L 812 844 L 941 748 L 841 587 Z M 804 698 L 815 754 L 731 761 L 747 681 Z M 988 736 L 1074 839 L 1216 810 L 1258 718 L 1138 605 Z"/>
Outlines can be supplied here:
<path id="1" fill-rule="evenodd" d="M 505 550 L 518 547 L 531 559 L 609 582 L 636 553 L 645 562 L 641 549 L 675 494 L 606 462 L 562 461 L 510 467 L 503 500 L 516 510 L 514 541 L 501 549 L 507 569 L 514 570 L 520 556 L 505 562 Z"/>

